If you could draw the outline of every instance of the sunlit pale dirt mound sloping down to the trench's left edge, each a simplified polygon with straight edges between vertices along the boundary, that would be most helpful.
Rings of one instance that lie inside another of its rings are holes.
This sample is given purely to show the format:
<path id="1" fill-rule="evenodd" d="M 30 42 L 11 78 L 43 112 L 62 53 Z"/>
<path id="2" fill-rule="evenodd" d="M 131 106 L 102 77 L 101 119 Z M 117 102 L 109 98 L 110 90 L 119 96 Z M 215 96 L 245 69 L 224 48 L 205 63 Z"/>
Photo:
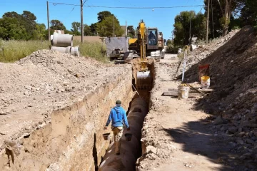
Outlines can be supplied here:
<path id="1" fill-rule="evenodd" d="M 42 50 L 16 63 L 0 63 L 0 151 L 64 108 L 106 85 L 129 67 Z"/>

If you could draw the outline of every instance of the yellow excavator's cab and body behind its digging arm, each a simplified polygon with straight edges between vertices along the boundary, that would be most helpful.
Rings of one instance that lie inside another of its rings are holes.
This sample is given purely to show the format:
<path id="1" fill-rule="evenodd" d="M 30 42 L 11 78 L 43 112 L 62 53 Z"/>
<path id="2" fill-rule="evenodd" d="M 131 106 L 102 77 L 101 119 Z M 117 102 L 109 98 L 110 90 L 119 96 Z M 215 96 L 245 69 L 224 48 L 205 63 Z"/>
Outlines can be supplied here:
<path id="1" fill-rule="evenodd" d="M 141 20 L 141 23 L 139 24 L 137 31 L 138 31 L 138 38 L 131 38 L 129 39 L 129 50 L 133 51 L 133 53 L 129 54 L 129 57 L 127 60 L 130 60 L 131 58 L 137 58 L 141 56 L 141 24 L 143 23 L 143 20 Z M 144 25 L 145 26 L 145 25 Z M 165 56 L 165 40 L 163 39 L 163 33 L 158 31 L 158 28 L 146 28 L 144 31 L 144 51 L 146 53 L 147 57 L 155 58 L 156 61 L 160 61 L 161 58 L 164 58 Z"/>

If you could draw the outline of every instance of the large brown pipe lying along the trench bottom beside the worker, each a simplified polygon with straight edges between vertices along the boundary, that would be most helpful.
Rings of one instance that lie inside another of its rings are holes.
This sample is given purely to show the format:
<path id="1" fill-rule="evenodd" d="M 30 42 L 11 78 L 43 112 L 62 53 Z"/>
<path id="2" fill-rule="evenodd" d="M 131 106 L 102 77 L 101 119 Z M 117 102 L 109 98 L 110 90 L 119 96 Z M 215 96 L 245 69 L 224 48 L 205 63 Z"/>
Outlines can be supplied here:
<path id="1" fill-rule="evenodd" d="M 99 171 L 133 171 L 136 170 L 136 160 L 140 155 L 140 140 L 143 120 L 148 113 L 148 105 L 143 98 L 136 98 L 131 102 L 128 121 L 130 131 L 124 126 L 124 134 L 121 138 L 120 155 L 115 153 L 114 141 L 109 145 Z M 131 141 L 126 141 L 125 134 L 132 133 Z"/>

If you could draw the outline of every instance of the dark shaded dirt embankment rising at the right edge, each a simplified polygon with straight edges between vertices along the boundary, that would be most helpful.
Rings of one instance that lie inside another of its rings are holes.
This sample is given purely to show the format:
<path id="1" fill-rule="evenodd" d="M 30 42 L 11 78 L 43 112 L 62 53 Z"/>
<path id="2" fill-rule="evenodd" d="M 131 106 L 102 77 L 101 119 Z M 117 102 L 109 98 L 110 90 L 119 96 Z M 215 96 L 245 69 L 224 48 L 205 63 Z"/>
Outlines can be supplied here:
<path id="1" fill-rule="evenodd" d="M 210 64 L 214 92 L 197 108 L 219 115 L 213 118 L 211 131 L 231 137 L 231 144 L 241 160 L 257 162 L 257 38 L 246 26 L 224 46 L 200 64 Z M 186 81 L 198 81 L 198 64 L 186 71 Z"/>

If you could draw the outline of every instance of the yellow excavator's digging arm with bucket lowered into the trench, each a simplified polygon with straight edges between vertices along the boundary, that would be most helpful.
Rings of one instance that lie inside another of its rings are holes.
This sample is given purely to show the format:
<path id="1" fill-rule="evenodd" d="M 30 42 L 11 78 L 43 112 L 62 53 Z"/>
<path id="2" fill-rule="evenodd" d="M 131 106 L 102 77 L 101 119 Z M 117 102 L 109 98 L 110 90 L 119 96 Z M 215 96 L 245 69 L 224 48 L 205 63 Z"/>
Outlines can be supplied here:
<path id="1" fill-rule="evenodd" d="M 140 45 L 140 58 L 141 68 L 136 73 L 136 88 L 137 89 L 148 89 L 151 88 L 151 71 L 148 71 L 146 61 L 146 25 L 143 20 L 138 26 L 138 44 Z"/>

